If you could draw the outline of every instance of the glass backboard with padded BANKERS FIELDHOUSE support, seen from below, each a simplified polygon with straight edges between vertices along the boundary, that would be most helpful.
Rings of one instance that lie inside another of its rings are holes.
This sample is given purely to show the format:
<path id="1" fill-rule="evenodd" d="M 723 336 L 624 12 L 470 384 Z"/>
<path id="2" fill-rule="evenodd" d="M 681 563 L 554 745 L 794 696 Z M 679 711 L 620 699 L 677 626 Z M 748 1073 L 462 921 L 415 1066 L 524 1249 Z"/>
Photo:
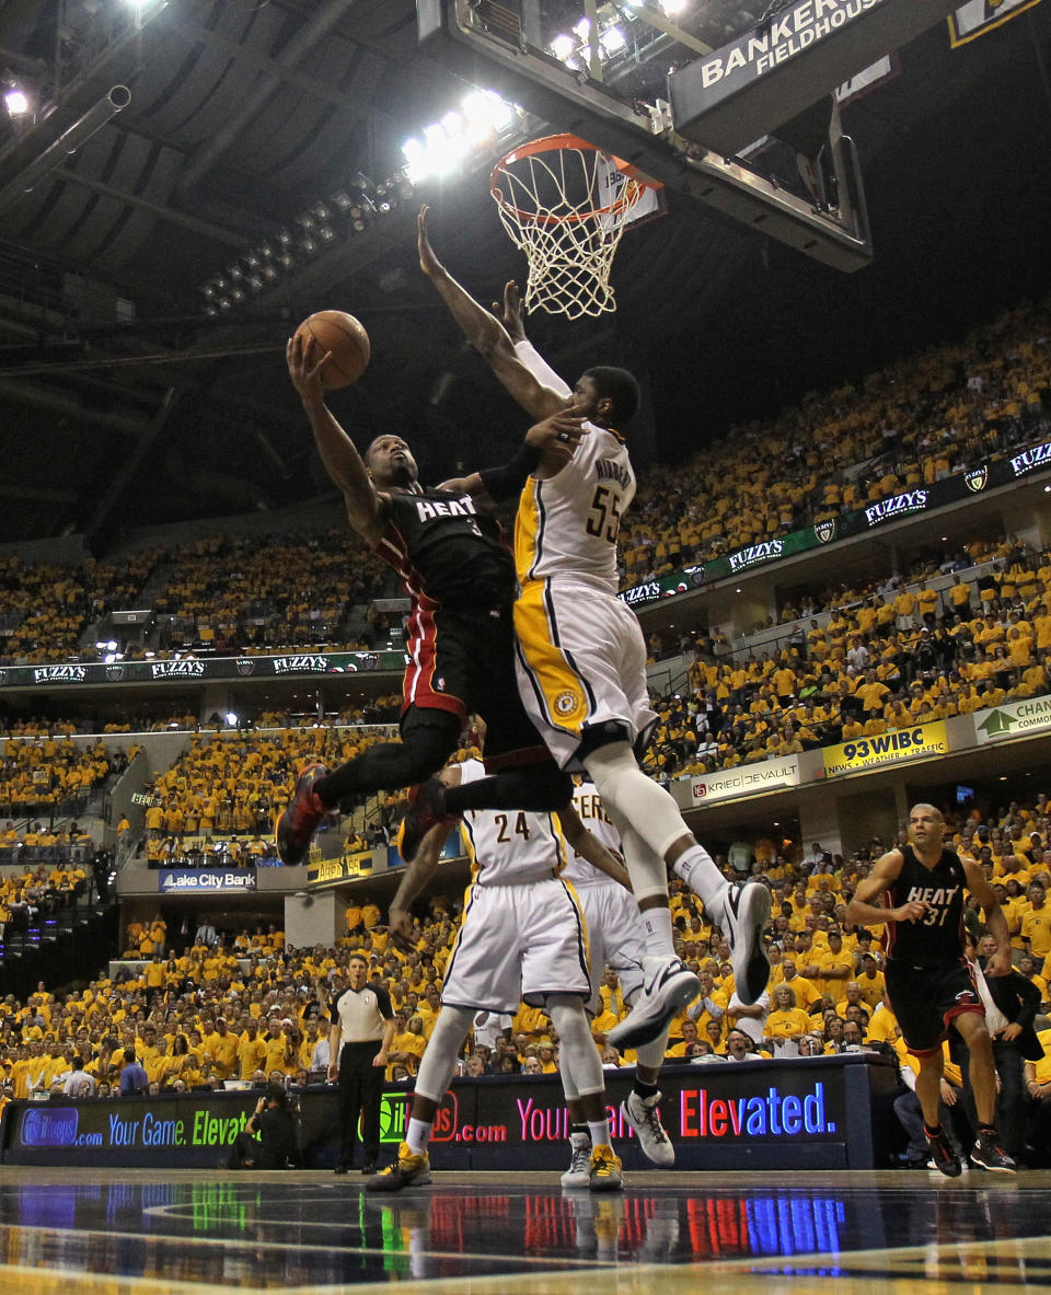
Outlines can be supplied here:
<path id="1" fill-rule="evenodd" d="M 836 89 L 953 0 L 417 0 L 443 66 L 840 269 L 872 255 Z M 538 130 L 534 133 L 544 133 Z"/>

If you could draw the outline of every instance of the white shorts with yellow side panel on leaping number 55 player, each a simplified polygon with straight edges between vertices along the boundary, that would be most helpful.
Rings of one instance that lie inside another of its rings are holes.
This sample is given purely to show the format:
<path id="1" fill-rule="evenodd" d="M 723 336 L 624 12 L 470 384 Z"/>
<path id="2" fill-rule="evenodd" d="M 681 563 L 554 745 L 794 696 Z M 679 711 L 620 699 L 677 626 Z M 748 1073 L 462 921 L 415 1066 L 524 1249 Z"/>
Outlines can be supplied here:
<path id="1" fill-rule="evenodd" d="M 586 581 L 530 580 L 514 603 L 518 692 L 561 768 L 586 729 L 618 721 L 632 745 L 656 723 L 645 640 L 631 609 Z"/>

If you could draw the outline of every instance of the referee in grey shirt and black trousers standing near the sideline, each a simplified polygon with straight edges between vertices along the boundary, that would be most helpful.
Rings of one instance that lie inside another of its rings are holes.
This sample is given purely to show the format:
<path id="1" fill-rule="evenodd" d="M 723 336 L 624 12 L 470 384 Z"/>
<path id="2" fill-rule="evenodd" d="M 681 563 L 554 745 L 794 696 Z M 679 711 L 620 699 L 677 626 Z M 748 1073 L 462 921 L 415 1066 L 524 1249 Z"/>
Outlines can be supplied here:
<path id="1" fill-rule="evenodd" d="M 347 988 L 332 1005 L 328 1032 L 329 1081 L 340 1076 L 341 1143 L 337 1173 L 354 1164 L 358 1116 L 365 1149 L 363 1173 L 375 1173 L 380 1159 L 380 1101 L 387 1052 L 394 1040 L 394 1009 L 382 985 L 368 984 L 368 962 L 355 953 L 347 966 Z M 341 1046 L 342 1045 L 342 1046 Z"/>

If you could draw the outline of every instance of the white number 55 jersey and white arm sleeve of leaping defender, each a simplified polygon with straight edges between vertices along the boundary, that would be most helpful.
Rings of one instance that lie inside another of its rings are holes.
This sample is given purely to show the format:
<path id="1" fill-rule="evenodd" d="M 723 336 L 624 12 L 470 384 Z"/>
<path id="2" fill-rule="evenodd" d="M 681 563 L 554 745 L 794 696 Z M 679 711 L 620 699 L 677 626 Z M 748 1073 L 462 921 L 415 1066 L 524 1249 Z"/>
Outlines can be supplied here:
<path id="1" fill-rule="evenodd" d="M 560 395 L 570 388 L 527 342 L 516 355 Z M 530 477 L 514 521 L 514 566 L 518 580 L 549 576 L 582 576 L 597 581 L 614 597 L 617 579 L 617 532 L 621 518 L 635 497 L 635 473 L 623 436 L 594 422 L 557 477 Z"/>

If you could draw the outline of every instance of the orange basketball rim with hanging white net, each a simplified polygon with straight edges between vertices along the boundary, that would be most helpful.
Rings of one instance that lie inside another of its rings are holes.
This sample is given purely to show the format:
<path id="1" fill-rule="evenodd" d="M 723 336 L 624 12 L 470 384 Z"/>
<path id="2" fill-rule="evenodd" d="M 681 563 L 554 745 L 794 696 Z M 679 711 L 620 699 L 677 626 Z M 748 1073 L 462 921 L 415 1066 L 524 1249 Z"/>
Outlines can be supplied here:
<path id="1" fill-rule="evenodd" d="M 640 199 L 657 185 L 575 135 L 548 135 L 504 154 L 489 188 L 529 262 L 527 311 L 574 320 L 617 310 L 613 255 L 640 215 Z"/>

